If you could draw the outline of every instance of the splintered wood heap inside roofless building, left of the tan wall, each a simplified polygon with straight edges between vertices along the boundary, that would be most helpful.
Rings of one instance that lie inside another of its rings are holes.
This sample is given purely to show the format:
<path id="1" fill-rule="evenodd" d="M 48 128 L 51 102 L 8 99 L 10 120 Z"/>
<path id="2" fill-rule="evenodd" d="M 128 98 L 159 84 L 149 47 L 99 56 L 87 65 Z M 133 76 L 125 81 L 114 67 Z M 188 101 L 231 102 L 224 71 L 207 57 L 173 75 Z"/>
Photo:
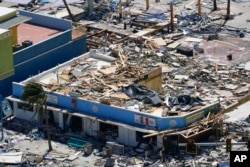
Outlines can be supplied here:
<path id="1" fill-rule="evenodd" d="M 77 94 L 87 100 L 97 100 L 107 105 L 124 106 L 131 100 L 121 87 L 134 83 L 146 69 L 127 63 L 126 55 L 119 52 L 119 60 L 98 67 L 98 60 L 76 60 L 70 68 L 58 72 L 57 79 L 44 85 L 63 94 Z"/>

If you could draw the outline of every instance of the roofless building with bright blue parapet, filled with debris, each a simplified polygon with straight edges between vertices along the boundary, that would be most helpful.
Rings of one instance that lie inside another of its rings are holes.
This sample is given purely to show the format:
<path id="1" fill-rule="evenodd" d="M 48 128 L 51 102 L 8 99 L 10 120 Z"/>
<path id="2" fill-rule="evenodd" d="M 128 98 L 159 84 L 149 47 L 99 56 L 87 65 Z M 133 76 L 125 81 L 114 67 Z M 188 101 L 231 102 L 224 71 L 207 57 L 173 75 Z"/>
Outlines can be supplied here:
<path id="1" fill-rule="evenodd" d="M 178 96 L 169 94 L 165 90 L 168 86 L 162 84 L 165 83 L 162 77 L 168 73 L 154 64 L 150 66 L 149 57 L 149 64 L 144 60 L 141 66 L 124 53 L 119 54 L 120 58 L 115 59 L 91 50 L 21 83 L 14 82 L 13 95 L 9 97 L 14 116 L 31 119 L 33 115 L 22 109 L 18 99 L 29 81 L 45 87 L 53 122 L 62 129 L 112 137 L 131 146 L 141 142 L 144 135 L 184 128 L 220 110 L 217 100 L 184 92 Z M 162 136 L 153 138 L 161 147 Z"/>

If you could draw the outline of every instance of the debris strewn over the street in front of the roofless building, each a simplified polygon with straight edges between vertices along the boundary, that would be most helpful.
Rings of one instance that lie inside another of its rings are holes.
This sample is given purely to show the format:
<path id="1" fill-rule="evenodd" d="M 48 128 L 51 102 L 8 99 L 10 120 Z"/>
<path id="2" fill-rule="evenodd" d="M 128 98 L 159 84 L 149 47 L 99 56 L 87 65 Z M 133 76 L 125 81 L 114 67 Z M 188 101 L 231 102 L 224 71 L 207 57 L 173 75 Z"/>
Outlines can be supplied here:
<path id="1" fill-rule="evenodd" d="M 226 120 L 227 118 L 223 116 L 223 119 Z M 22 120 L 15 120 L 9 122 L 9 125 L 15 124 L 17 121 L 19 121 L 19 123 L 25 124 L 25 122 Z M 225 141 L 228 136 L 233 139 L 233 142 L 244 142 L 245 139 L 240 136 L 248 136 L 247 130 L 249 130 L 249 122 L 247 122 L 247 119 L 238 122 L 226 121 L 223 123 L 222 127 L 224 127 L 223 129 L 226 130 L 223 130 L 223 133 L 217 133 L 218 136 L 214 136 L 215 141 L 217 142 Z M 115 148 L 108 153 L 104 150 L 104 148 L 107 148 L 107 146 L 105 147 L 105 145 L 103 145 L 104 147 L 99 147 L 99 145 L 95 145 L 95 142 L 100 143 L 100 141 L 97 141 L 96 139 L 91 139 L 91 142 L 94 145 L 93 152 L 91 152 L 90 155 L 84 155 L 84 150 L 79 150 L 75 147 L 69 147 L 64 143 L 58 143 L 56 141 L 53 142 L 54 150 L 47 153 L 47 142 L 44 140 L 44 136 L 34 139 L 32 136 L 30 136 L 30 134 L 31 133 L 22 134 L 11 130 L 5 130 L 5 141 L 1 142 L 1 163 L 8 164 L 8 162 L 10 162 L 9 164 L 12 164 L 12 160 L 15 160 L 14 164 L 22 164 L 23 166 L 73 166 L 73 164 L 76 162 L 84 162 L 85 166 L 91 165 L 93 163 L 93 166 L 111 164 L 112 166 L 136 165 L 150 167 L 194 167 L 211 166 L 218 165 L 219 163 L 229 162 L 229 154 L 226 152 L 225 146 L 199 146 L 198 155 L 196 156 L 186 154 L 185 148 L 179 147 L 178 153 L 168 152 L 165 159 L 163 159 L 161 151 L 155 150 L 154 147 L 150 146 L 150 143 L 144 149 L 125 146 L 124 154 L 118 155 L 115 154 Z M 67 136 L 69 133 L 61 132 L 61 135 Z M 88 140 L 90 141 L 90 139 Z M 208 142 L 211 141 L 208 140 Z M 245 145 L 233 146 L 233 150 L 245 149 Z M 12 160 L 5 159 L 6 156 L 12 157 Z M 2 160 L 6 162 L 3 162 Z"/>

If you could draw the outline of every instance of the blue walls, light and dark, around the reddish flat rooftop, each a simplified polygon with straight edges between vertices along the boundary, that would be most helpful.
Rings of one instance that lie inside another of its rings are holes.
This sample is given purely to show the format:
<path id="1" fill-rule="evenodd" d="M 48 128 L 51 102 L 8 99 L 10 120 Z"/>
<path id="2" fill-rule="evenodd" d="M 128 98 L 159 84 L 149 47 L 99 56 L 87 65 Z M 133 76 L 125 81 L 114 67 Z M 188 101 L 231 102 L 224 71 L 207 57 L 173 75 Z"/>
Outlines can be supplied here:
<path id="1" fill-rule="evenodd" d="M 69 20 L 19 10 L 31 17 L 29 23 L 59 29 L 62 32 L 46 41 L 31 45 L 13 53 L 15 74 L 0 81 L 0 94 L 11 95 L 12 82 L 20 82 L 31 75 L 48 70 L 86 52 L 86 37 L 72 40 L 72 24 Z"/>

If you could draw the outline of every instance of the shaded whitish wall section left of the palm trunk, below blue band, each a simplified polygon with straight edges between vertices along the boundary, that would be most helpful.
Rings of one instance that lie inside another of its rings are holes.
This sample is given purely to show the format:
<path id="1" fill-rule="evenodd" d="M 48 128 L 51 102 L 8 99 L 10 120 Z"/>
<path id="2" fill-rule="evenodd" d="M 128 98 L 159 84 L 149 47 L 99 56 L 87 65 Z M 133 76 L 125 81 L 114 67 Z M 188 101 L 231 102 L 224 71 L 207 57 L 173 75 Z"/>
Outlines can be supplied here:
<path id="1" fill-rule="evenodd" d="M 31 111 L 27 111 L 27 110 L 23 110 L 18 108 L 17 102 L 13 103 L 13 108 L 14 108 L 14 117 L 15 118 L 20 118 L 20 119 L 24 119 L 27 121 L 38 121 L 38 115 L 36 115 L 34 117 L 35 112 L 31 112 Z M 34 117 L 34 118 L 32 118 Z"/>

